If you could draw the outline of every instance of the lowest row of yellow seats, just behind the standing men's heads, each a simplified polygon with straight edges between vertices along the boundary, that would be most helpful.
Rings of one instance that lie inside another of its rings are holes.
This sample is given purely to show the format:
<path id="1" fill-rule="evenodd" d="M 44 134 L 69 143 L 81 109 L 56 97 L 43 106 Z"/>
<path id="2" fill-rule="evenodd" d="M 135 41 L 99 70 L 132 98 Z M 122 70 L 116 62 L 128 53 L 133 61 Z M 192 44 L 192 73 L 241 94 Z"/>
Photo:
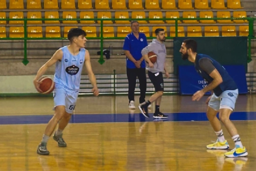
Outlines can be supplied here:
<path id="1" fill-rule="evenodd" d="M 41 37 L 67 37 L 67 33 L 70 28 L 77 26 L 65 26 L 64 32 L 62 33 L 60 26 L 46 26 L 45 27 L 45 35 L 43 36 L 43 27 L 41 26 L 31 26 L 28 27 L 27 33 L 28 37 L 31 38 L 41 38 Z M 159 26 L 153 26 L 152 30 L 159 28 Z M 171 26 L 167 29 L 166 26 L 161 26 L 161 28 L 165 29 L 167 34 L 166 36 L 175 36 L 175 27 Z M 87 32 L 87 37 L 99 37 L 100 31 L 97 32 L 96 26 L 83 26 L 82 27 L 85 32 Z M 186 36 L 194 37 L 194 36 L 220 36 L 219 32 L 222 32 L 221 36 L 248 36 L 248 26 L 239 26 L 239 30 L 236 30 L 235 26 L 221 26 L 221 30 L 219 30 L 218 26 L 204 26 L 204 31 L 202 31 L 202 26 L 188 26 L 186 31 Z M 236 32 L 239 32 L 238 34 Z M 115 35 L 114 27 L 112 26 L 104 26 L 103 27 L 103 37 L 125 37 L 127 34 L 131 32 L 131 28 L 129 26 L 118 26 L 117 27 L 117 35 Z M 144 32 L 147 37 L 155 36 L 153 32 L 149 31 L 148 26 L 140 26 L 140 32 Z M 61 35 L 62 34 L 62 35 Z M 184 26 L 178 26 L 178 36 L 184 37 L 185 31 Z M 24 37 L 24 27 L 10 27 L 9 30 L 10 38 L 23 38 Z M 6 38 L 6 27 L 0 27 L 0 38 Z"/>

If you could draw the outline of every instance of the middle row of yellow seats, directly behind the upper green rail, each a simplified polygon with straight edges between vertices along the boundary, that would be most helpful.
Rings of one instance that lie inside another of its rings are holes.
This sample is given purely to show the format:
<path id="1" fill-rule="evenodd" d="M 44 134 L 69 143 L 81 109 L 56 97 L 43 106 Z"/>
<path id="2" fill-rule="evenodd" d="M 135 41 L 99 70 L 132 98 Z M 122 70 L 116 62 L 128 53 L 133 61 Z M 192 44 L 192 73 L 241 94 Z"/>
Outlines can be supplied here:
<path id="1" fill-rule="evenodd" d="M 24 18 L 24 12 L 7 12 L 9 17 L 8 18 Z M 29 11 L 27 12 L 27 18 L 42 18 L 43 12 L 38 12 L 38 11 Z M 96 12 L 95 12 L 96 13 Z M 81 11 L 80 14 L 77 14 L 75 11 L 64 11 L 62 12 L 62 18 L 95 18 L 94 17 L 94 12 L 92 11 Z M 78 16 L 79 15 L 79 16 Z M 150 11 L 148 12 L 148 18 L 180 18 L 180 12 L 165 12 L 165 17 L 163 17 L 163 12 L 161 11 Z M 196 15 L 195 11 L 184 11 L 182 13 L 182 18 L 197 18 L 198 16 Z M 200 11 L 199 14 L 200 18 L 213 18 L 213 12 L 212 11 Z M 233 12 L 233 17 L 235 18 L 243 18 L 246 17 L 246 11 L 234 11 Z M 0 12 L 0 18 L 6 18 L 6 12 Z M 43 18 L 60 18 L 59 12 L 58 11 L 46 11 L 44 12 L 44 17 Z M 97 12 L 97 18 L 112 18 L 111 12 Z M 130 18 L 128 11 L 118 11 L 115 12 L 115 18 Z M 146 13 L 144 11 L 133 11 L 131 14 L 131 18 L 146 18 Z M 231 18 L 231 14 L 229 11 L 218 11 L 217 12 L 217 18 Z M 76 21 L 76 20 L 63 20 L 63 24 L 76 24 L 80 22 L 81 24 L 94 24 L 95 21 L 93 20 L 81 20 L 81 21 Z M 100 23 L 100 21 L 97 21 Z M 116 24 L 129 24 L 130 22 L 128 20 L 116 20 L 114 21 Z M 199 21 L 197 20 L 183 20 L 183 23 L 186 24 L 197 24 Z M 217 20 L 218 23 L 246 23 L 248 22 L 247 20 Z M 23 24 L 24 22 L 21 21 L 0 21 L 0 24 Z M 58 24 L 60 21 L 28 21 L 28 24 Z M 107 24 L 112 24 L 113 21 L 111 20 L 106 20 L 103 21 L 103 23 Z M 148 21 L 139 21 L 140 24 L 147 24 Z M 175 20 L 149 20 L 149 24 L 174 24 Z M 179 21 L 178 23 L 181 23 Z M 207 24 L 214 24 L 216 21 L 214 20 L 200 20 L 200 23 L 207 23 Z"/>

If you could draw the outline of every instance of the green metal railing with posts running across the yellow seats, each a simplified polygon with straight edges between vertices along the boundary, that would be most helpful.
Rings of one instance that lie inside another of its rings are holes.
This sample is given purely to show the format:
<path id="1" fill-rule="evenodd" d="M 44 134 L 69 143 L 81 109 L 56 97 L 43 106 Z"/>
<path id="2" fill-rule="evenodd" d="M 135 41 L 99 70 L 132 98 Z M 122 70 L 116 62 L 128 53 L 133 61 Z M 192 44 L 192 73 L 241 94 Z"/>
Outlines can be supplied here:
<path id="1" fill-rule="evenodd" d="M 129 18 L 129 19 L 124 19 L 124 18 L 0 18 L 0 21 L 6 20 L 6 21 L 24 21 L 24 37 L 23 38 L 0 38 L 0 40 L 24 40 L 24 59 L 23 59 L 23 64 L 27 65 L 29 63 L 29 60 L 27 59 L 27 40 L 61 40 L 61 39 L 67 39 L 67 38 L 31 38 L 27 37 L 27 21 L 67 21 L 67 20 L 76 20 L 76 21 L 83 21 L 83 20 L 93 20 L 93 21 L 100 21 L 100 37 L 87 37 L 88 39 L 99 39 L 100 40 L 100 50 L 101 50 L 101 56 L 98 60 L 100 64 L 103 64 L 104 58 L 103 58 L 103 40 L 105 39 L 124 39 L 124 37 L 103 37 L 103 21 L 104 20 L 111 20 L 111 21 L 117 21 L 117 20 L 143 20 L 143 21 L 148 21 L 148 20 L 175 20 L 175 37 L 178 37 L 178 21 L 179 20 L 248 20 L 248 25 L 249 25 L 249 33 L 248 33 L 248 62 L 250 62 L 251 59 L 251 41 L 252 38 L 254 38 L 253 35 L 253 28 L 254 28 L 254 20 L 255 18 L 250 18 L 250 17 L 245 17 L 245 18 Z M 169 25 L 169 24 L 166 24 Z M 237 24 L 235 24 L 237 25 Z M 154 37 L 149 37 L 154 38 Z M 166 39 L 172 39 L 173 37 L 166 37 Z"/>

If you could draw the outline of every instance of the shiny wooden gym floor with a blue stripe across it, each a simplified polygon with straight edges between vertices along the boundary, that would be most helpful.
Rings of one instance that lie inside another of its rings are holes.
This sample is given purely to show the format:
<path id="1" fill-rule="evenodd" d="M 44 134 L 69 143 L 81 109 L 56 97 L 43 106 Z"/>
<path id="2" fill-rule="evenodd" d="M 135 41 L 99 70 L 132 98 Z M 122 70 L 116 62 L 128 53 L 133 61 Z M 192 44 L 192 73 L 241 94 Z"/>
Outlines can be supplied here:
<path id="1" fill-rule="evenodd" d="M 68 146 L 58 147 L 51 137 L 49 156 L 36 149 L 53 114 L 52 98 L 1 98 L 0 171 L 254 171 L 256 95 L 239 95 L 231 115 L 249 153 L 243 158 L 206 149 L 217 139 L 205 116 L 206 98 L 163 96 L 160 109 L 169 118 L 153 120 L 154 105 L 145 119 L 128 109 L 127 96 L 79 97 L 64 130 Z"/>

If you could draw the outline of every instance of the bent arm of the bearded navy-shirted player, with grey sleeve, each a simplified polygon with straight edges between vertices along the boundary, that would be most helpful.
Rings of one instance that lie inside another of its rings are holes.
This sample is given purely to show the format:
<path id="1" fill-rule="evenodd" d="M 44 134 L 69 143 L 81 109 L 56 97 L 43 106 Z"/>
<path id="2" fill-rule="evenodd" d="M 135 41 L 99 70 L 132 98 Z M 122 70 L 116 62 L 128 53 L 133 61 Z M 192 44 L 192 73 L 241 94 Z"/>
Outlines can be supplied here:
<path id="1" fill-rule="evenodd" d="M 213 78 L 213 81 L 209 85 L 204 87 L 202 91 L 204 93 L 208 91 L 212 91 L 213 89 L 215 89 L 215 87 L 217 87 L 223 81 L 221 74 L 219 74 L 218 70 L 215 68 L 215 66 L 213 66 L 213 63 L 209 58 L 200 59 L 199 65 L 200 65 L 200 68 L 202 68 L 202 70 L 207 72 Z"/>

